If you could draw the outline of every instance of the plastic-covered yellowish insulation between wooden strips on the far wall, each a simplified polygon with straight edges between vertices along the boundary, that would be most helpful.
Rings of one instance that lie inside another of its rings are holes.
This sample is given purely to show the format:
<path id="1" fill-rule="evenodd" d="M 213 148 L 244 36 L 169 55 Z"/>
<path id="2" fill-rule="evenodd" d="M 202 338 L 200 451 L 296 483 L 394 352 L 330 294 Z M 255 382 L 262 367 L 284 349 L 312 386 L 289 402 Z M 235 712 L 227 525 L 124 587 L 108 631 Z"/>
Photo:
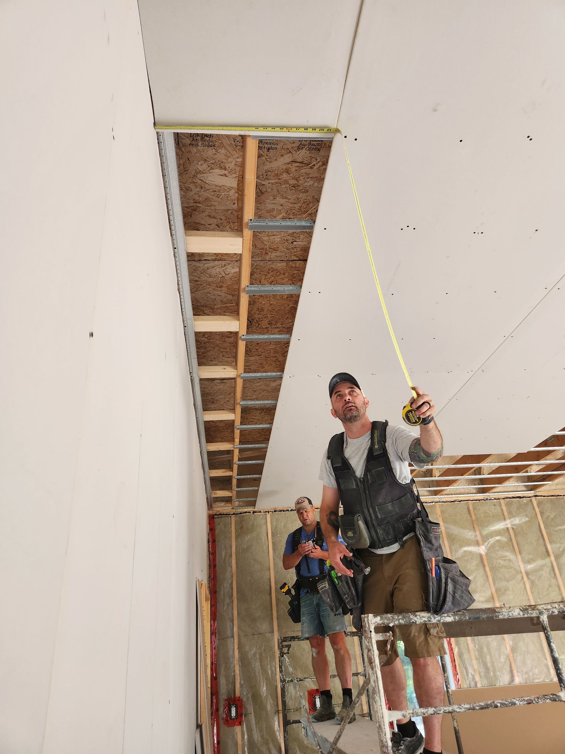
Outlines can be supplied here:
<path id="1" fill-rule="evenodd" d="M 249 469 L 249 467 L 248 467 Z M 252 473 L 246 470 L 246 473 Z M 252 482 L 252 480 L 249 480 Z M 252 486 L 249 484 L 249 486 Z M 560 570 L 565 578 L 565 498 L 536 498 L 539 513 L 550 541 L 550 546 Z M 530 584 L 535 602 L 560 601 L 563 596 L 548 550 L 543 541 L 539 522 L 531 498 L 508 498 L 504 501 L 512 531 L 518 544 L 524 572 Z M 452 556 L 460 563 L 463 572 L 472 578 L 474 607 L 493 606 L 494 598 L 487 579 L 481 548 L 472 524 L 469 504 L 439 504 L 444 535 L 447 538 Z M 432 520 L 438 519 L 435 504 L 426 506 Z M 477 501 L 472 504 L 479 533 L 484 545 L 484 555 L 499 604 L 528 604 L 524 587 L 524 577 L 518 565 L 510 538 L 508 525 L 502 513 L 500 501 Z M 266 513 L 242 514 L 235 516 L 237 547 L 237 603 L 238 626 L 240 630 L 240 673 L 241 695 L 246 718 L 243 725 L 244 751 L 279 751 L 279 722 L 276 710 L 275 648 L 273 618 L 270 593 L 270 572 L 267 550 Z M 216 516 L 216 539 L 218 543 L 218 616 L 224 614 L 221 637 L 218 641 L 218 676 L 220 701 L 225 696 L 223 688 L 231 689 L 234 679 L 233 665 L 233 599 L 231 596 L 231 516 Z M 286 610 L 288 600 L 278 587 L 284 581 L 294 583 L 294 572 L 282 569 L 282 551 L 289 532 L 299 526 L 293 512 L 270 513 L 273 535 L 273 565 L 276 599 L 276 617 L 279 635 L 298 635 L 300 627 L 290 621 Z M 220 553 L 225 566 L 220 568 Z M 347 619 L 349 624 L 349 618 Z M 230 633 L 231 632 L 231 633 Z M 220 634 L 218 633 L 218 638 Z M 226 639 L 226 637 L 228 637 Z M 565 632 L 554 633 L 561 661 L 565 661 Z M 356 670 L 356 639 L 348 639 L 353 670 Z M 519 683 L 547 682 L 553 679 L 542 648 L 539 635 L 521 634 L 509 636 Z M 502 636 L 478 637 L 471 640 L 478 670 L 475 673 L 469 644 L 466 639 L 457 639 L 458 670 L 464 687 L 511 685 L 515 682 Z M 331 673 L 335 673 L 333 654 L 328 645 Z M 289 654 L 296 676 L 311 676 L 310 649 L 307 642 L 292 642 Z M 314 688 L 315 682 L 303 682 L 301 688 L 306 694 Z M 359 688 L 353 680 L 353 693 Z M 331 691 L 334 700 L 341 700 L 341 690 L 337 681 L 332 681 Z M 227 694 L 227 691 L 226 691 Z M 230 694 L 231 695 L 231 694 Z M 287 710 L 289 718 L 301 717 L 300 704 L 292 684 L 287 685 Z M 231 754 L 234 740 L 232 729 L 221 726 L 222 750 Z M 310 744 L 302 737 L 301 726 L 289 728 L 291 751 L 312 752 Z M 227 749 L 224 749 L 224 742 Z"/>

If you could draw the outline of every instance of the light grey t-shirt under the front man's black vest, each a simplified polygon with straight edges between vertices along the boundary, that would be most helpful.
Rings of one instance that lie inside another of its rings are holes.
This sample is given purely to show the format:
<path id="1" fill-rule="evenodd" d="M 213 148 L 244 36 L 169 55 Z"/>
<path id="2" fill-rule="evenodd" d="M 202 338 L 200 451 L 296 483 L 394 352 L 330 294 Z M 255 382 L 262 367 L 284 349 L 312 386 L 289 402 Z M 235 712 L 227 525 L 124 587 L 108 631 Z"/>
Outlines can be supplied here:
<path id="1" fill-rule="evenodd" d="M 406 484 L 410 481 L 410 467 L 408 467 L 408 461 L 410 461 L 410 445 L 412 440 L 415 440 L 417 435 L 411 432 L 405 427 L 394 427 L 389 425 L 386 428 L 386 452 L 389 454 L 390 465 L 392 471 L 397 480 L 400 483 Z M 350 462 L 358 477 L 362 477 L 365 470 L 365 461 L 367 460 L 367 452 L 369 445 L 371 444 L 371 431 L 362 437 L 347 437 L 344 438 L 344 456 Z M 331 468 L 331 463 L 327 457 L 327 450 L 324 451 L 322 456 L 322 464 L 319 470 L 319 480 L 322 481 L 326 487 L 333 487 L 337 489 L 335 483 L 334 470 Z M 426 464 L 414 464 L 416 468 L 423 468 Z M 413 537 L 413 534 L 409 534 L 406 539 Z M 372 550 L 379 555 L 386 555 L 387 553 L 394 553 L 399 550 L 399 544 L 391 544 L 389 547 L 381 547 L 378 550 Z M 372 548 L 371 548 L 372 549 Z"/>

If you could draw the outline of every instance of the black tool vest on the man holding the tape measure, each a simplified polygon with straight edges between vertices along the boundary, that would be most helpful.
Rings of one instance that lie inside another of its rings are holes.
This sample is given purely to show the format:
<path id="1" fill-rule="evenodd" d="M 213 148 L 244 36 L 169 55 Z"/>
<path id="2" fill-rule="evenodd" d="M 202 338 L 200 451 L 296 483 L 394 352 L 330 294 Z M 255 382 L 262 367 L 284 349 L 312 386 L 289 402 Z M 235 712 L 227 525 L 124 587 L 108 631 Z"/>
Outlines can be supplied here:
<path id="1" fill-rule="evenodd" d="M 415 532 L 414 519 L 420 513 L 414 483 L 396 479 L 386 452 L 388 421 L 373 421 L 371 445 L 361 479 L 344 456 L 344 433 L 334 435 L 328 445 L 328 460 L 334 470 L 344 516 L 361 514 L 368 532 L 368 547 L 379 549 L 397 542 L 404 547 L 406 535 Z M 345 532 L 342 536 L 347 541 Z"/>

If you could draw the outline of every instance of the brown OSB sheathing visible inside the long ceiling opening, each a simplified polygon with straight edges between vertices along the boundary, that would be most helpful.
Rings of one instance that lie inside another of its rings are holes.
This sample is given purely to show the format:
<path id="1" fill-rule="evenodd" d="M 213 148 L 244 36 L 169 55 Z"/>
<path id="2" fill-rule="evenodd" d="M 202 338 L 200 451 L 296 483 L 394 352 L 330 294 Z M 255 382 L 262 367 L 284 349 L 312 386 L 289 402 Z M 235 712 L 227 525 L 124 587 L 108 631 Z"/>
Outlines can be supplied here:
<path id="1" fill-rule="evenodd" d="M 241 231 L 243 139 L 224 134 L 178 134 L 177 161 L 186 231 Z M 261 139 L 258 145 L 255 217 L 316 219 L 331 143 L 313 139 Z M 301 285 L 311 231 L 267 231 L 253 236 L 249 282 L 252 285 Z M 240 255 L 188 254 L 188 274 L 195 316 L 237 316 L 240 296 Z M 247 317 L 250 334 L 292 334 L 298 296 L 251 296 Z M 196 333 L 200 366 L 232 366 L 236 333 Z M 282 372 L 288 342 L 246 344 L 246 372 Z M 253 380 L 243 385 L 243 400 L 276 400 L 280 380 Z M 204 411 L 233 410 L 233 380 L 200 383 Z M 272 423 L 247 418 L 242 424 Z M 234 437 L 230 421 L 209 421 L 206 442 Z M 270 431 L 243 431 L 240 442 L 267 442 Z M 218 467 L 212 465 L 211 467 Z M 222 464 L 221 467 L 224 467 Z M 212 481 L 215 490 L 230 481 Z"/>

